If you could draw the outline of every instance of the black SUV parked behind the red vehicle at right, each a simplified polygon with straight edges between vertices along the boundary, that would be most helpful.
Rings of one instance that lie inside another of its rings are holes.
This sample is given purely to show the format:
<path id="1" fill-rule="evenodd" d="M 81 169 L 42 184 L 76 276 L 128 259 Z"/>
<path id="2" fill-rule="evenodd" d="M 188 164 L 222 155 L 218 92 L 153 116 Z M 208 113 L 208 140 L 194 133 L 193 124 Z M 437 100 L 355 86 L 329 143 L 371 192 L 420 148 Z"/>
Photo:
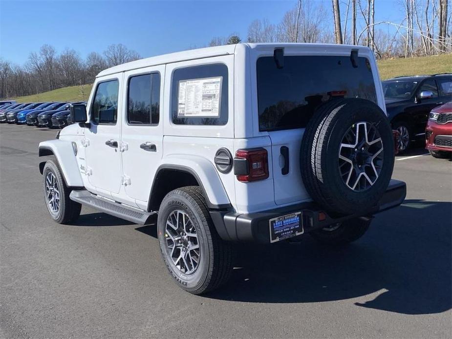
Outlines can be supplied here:
<path id="1" fill-rule="evenodd" d="M 392 128 L 399 131 L 400 152 L 411 142 L 424 140 L 430 110 L 452 97 L 452 74 L 398 77 L 383 82 L 386 110 Z"/>

